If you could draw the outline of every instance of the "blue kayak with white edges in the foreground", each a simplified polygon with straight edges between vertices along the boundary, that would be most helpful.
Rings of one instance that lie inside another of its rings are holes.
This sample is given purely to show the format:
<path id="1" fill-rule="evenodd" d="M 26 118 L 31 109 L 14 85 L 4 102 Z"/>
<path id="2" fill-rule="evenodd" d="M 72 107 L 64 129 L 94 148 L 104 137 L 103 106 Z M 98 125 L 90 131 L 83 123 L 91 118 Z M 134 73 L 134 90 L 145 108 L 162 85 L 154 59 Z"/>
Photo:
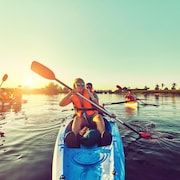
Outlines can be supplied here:
<path id="1" fill-rule="evenodd" d="M 52 180 L 124 180 L 124 149 L 116 122 L 106 117 L 107 129 L 112 134 L 110 145 L 81 144 L 80 148 L 68 148 L 64 138 L 71 121 L 64 121 L 56 139 Z"/>

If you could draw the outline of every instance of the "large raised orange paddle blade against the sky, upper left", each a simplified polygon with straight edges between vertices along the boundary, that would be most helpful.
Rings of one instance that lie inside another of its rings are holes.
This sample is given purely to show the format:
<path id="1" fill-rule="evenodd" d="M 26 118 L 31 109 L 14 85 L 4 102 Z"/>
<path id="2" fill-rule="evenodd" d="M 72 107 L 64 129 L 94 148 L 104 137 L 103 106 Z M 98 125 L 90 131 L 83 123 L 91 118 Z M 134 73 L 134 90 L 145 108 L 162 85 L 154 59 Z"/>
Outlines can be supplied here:
<path id="1" fill-rule="evenodd" d="M 48 67 L 44 66 L 43 64 L 37 61 L 32 62 L 31 70 L 46 79 L 50 79 L 50 80 L 56 79 L 55 74 L 52 72 L 52 70 L 50 70 Z"/>

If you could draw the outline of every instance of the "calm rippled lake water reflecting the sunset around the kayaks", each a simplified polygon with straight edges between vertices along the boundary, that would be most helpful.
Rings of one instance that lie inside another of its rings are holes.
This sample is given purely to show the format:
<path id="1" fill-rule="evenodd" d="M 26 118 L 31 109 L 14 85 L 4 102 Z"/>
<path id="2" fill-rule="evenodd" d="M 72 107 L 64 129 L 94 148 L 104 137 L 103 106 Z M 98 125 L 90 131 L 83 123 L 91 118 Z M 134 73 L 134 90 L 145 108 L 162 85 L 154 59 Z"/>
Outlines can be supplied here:
<path id="1" fill-rule="evenodd" d="M 28 95 L 28 102 L 0 112 L 0 179 L 51 180 L 57 133 L 72 106 L 58 106 L 60 96 Z M 121 95 L 99 95 L 100 103 L 124 101 Z M 144 98 L 140 96 L 139 98 Z M 180 97 L 148 96 L 137 110 L 124 104 L 106 106 L 123 122 L 154 139 L 138 138 L 118 123 L 123 139 L 126 180 L 178 180 L 180 177 Z M 62 112 L 62 110 L 67 110 Z"/>

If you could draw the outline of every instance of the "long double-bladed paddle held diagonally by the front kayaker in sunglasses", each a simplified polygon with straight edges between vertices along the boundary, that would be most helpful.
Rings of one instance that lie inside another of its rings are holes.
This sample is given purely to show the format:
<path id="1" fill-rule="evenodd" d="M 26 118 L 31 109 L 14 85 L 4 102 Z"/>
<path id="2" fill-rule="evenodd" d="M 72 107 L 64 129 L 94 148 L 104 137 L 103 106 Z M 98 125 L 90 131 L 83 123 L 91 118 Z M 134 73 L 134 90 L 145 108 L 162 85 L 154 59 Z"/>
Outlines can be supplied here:
<path id="1" fill-rule="evenodd" d="M 46 78 L 46 79 L 50 79 L 50 80 L 55 80 L 58 83 L 60 83 L 61 85 L 65 86 L 66 88 L 68 88 L 69 90 L 72 90 L 72 88 L 70 88 L 68 85 L 64 84 L 63 82 L 61 82 L 60 80 L 58 80 L 55 77 L 55 74 L 52 70 L 50 70 L 48 67 L 44 66 L 43 64 L 40 64 L 37 61 L 33 61 L 31 64 L 31 69 L 32 71 L 36 72 L 37 74 L 39 74 L 40 76 Z M 83 98 L 84 100 L 88 101 L 89 103 L 91 103 L 94 107 L 96 107 L 98 110 L 102 111 L 104 114 L 108 115 L 109 117 L 112 117 L 112 114 L 109 113 L 107 110 L 105 110 L 104 108 L 102 108 L 101 106 L 99 106 L 98 104 L 94 103 L 93 101 L 87 99 L 86 97 L 84 97 L 82 94 L 77 92 L 77 95 L 80 96 L 81 98 Z M 124 123 L 123 121 L 121 121 L 118 118 L 115 118 L 118 122 L 120 122 L 121 124 L 123 124 L 124 126 L 126 126 L 127 128 L 131 129 L 132 131 L 134 131 L 135 133 L 137 133 L 140 137 L 142 138 L 152 138 L 151 134 L 147 133 L 147 132 L 138 132 L 135 129 L 133 129 L 131 126 L 127 125 L 126 123 Z"/>

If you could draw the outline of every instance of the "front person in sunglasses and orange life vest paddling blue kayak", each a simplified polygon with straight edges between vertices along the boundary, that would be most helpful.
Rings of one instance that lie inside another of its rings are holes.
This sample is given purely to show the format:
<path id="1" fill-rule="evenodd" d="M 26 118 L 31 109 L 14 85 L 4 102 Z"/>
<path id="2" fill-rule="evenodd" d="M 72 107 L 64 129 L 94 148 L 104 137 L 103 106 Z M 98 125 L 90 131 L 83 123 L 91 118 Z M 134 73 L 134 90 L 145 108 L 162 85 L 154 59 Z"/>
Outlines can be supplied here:
<path id="1" fill-rule="evenodd" d="M 77 92 L 91 100 L 89 91 L 85 89 L 84 80 L 76 78 L 73 83 L 73 89 L 59 102 L 60 106 L 66 106 L 73 103 L 75 109 L 71 132 L 68 133 L 65 138 L 67 145 L 72 148 L 80 147 L 79 132 L 83 127 L 96 127 L 101 137 L 100 142 L 98 142 L 100 146 L 111 144 L 112 135 L 105 130 L 105 122 L 102 115 L 99 114 L 98 110 L 93 107 L 90 102 L 78 96 Z"/>

